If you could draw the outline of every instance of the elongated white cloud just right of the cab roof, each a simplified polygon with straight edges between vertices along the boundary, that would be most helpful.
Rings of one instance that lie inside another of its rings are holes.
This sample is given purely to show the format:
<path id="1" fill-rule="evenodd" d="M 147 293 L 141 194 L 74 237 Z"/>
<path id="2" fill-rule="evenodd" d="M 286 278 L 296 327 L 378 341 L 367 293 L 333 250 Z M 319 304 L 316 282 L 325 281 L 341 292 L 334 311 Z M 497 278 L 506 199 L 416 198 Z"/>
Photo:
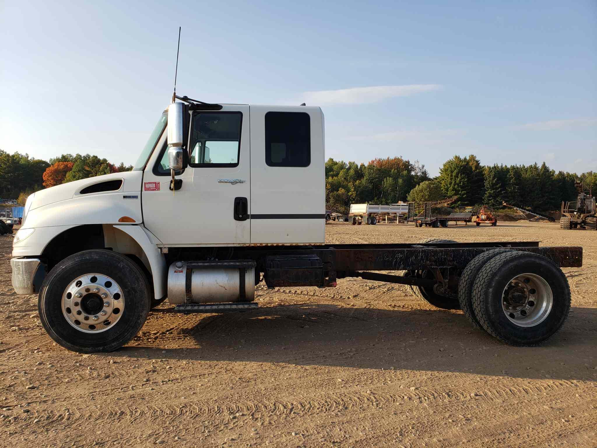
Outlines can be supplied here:
<path id="1" fill-rule="evenodd" d="M 377 85 L 373 87 L 343 88 L 305 92 L 304 102 L 309 105 L 366 104 L 398 96 L 439 90 L 439 84 Z"/>

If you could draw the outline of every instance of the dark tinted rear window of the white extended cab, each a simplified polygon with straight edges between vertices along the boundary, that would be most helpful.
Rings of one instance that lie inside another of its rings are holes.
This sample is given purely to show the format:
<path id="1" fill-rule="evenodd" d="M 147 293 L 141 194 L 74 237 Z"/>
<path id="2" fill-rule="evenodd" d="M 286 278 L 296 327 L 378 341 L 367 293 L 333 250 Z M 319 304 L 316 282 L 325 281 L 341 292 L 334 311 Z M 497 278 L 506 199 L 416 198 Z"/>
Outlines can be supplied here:
<path id="1" fill-rule="evenodd" d="M 265 162 L 270 167 L 308 167 L 311 122 L 305 112 L 265 114 Z"/>

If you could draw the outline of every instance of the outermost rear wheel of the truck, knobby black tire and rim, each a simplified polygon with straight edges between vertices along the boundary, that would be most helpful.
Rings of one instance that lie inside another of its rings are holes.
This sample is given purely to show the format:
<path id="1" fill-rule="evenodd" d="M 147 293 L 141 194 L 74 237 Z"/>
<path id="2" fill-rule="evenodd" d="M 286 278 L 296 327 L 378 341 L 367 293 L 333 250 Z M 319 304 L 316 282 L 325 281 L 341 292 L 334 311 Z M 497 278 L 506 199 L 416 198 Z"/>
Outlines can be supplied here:
<path id="1" fill-rule="evenodd" d="M 472 291 L 481 326 L 503 342 L 533 346 L 553 336 L 570 312 L 562 270 L 533 253 L 510 251 L 485 264 Z"/>

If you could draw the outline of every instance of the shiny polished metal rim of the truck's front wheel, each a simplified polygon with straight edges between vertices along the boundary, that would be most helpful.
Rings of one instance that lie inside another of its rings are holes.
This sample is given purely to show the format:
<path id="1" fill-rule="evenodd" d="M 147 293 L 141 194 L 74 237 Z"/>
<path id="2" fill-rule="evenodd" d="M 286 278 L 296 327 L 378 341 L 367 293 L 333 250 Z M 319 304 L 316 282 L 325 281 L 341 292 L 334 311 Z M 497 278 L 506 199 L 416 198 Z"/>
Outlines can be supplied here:
<path id="1" fill-rule="evenodd" d="M 62 313 L 66 321 L 84 333 L 101 333 L 120 320 L 124 294 L 116 281 L 103 274 L 81 275 L 62 294 Z"/>

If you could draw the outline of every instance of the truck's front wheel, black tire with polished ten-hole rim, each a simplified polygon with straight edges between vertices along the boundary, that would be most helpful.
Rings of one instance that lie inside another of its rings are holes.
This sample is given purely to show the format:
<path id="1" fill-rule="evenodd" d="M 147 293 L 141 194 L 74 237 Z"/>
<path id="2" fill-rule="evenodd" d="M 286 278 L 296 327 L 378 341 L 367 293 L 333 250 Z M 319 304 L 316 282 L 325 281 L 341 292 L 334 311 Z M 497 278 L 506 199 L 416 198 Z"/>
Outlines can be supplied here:
<path id="1" fill-rule="evenodd" d="M 85 250 L 59 262 L 39 291 L 39 317 L 64 348 L 109 352 L 141 329 L 150 285 L 130 259 L 110 250 Z"/>

